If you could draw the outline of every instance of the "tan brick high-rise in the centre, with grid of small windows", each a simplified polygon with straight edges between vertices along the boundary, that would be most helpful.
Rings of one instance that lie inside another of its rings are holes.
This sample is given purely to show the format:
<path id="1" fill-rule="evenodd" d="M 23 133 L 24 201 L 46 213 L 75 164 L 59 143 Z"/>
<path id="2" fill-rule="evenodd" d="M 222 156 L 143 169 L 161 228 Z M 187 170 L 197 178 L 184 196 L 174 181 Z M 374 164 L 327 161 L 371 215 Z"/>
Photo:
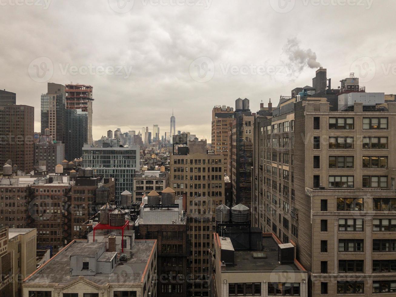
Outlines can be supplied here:
<path id="1" fill-rule="evenodd" d="M 208 154 L 205 141 L 189 141 L 171 155 L 169 187 L 187 196 L 187 231 L 190 244 L 187 296 L 209 296 L 209 249 L 213 247 L 215 208 L 224 204 L 224 157 Z"/>

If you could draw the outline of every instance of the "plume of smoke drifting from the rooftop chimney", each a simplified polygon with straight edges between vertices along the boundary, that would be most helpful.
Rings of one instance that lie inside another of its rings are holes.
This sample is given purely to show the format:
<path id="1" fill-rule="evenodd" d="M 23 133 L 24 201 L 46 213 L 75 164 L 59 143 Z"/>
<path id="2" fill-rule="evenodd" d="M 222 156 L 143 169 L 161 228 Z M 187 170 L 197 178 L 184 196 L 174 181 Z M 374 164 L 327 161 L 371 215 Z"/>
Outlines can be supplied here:
<path id="1" fill-rule="evenodd" d="M 320 67 L 320 63 L 316 61 L 316 53 L 310 48 L 302 49 L 297 38 L 288 38 L 282 50 L 287 57 L 287 67 L 293 69 L 293 72 L 297 72 L 295 75 L 300 74 L 306 66 L 309 68 Z"/>

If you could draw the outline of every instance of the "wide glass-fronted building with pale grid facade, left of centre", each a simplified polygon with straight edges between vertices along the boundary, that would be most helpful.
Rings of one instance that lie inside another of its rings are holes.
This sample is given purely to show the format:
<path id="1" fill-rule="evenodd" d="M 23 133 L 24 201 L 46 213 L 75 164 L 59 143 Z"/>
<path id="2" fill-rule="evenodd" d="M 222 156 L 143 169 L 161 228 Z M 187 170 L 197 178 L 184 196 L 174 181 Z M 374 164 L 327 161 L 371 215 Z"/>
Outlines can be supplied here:
<path id="1" fill-rule="evenodd" d="M 139 160 L 139 146 L 120 147 L 119 141 L 103 143 L 102 147 L 84 145 L 83 148 L 83 167 L 92 168 L 97 175 L 116 179 L 116 204 L 120 204 L 122 192 L 133 192 L 133 178 L 139 169 Z"/>

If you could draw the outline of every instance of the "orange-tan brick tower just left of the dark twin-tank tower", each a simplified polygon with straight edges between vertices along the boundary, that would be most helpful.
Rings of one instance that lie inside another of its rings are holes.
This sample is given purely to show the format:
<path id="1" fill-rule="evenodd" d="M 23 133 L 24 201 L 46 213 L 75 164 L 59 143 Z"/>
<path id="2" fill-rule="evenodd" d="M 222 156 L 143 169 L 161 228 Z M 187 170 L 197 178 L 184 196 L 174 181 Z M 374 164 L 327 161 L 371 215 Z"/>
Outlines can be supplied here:
<path id="1" fill-rule="evenodd" d="M 228 139 L 229 124 L 234 120 L 234 109 L 229 106 L 216 105 L 212 109 L 212 149 L 215 154 L 224 156 L 224 173 L 227 171 L 228 152 L 231 150 L 231 143 Z"/>

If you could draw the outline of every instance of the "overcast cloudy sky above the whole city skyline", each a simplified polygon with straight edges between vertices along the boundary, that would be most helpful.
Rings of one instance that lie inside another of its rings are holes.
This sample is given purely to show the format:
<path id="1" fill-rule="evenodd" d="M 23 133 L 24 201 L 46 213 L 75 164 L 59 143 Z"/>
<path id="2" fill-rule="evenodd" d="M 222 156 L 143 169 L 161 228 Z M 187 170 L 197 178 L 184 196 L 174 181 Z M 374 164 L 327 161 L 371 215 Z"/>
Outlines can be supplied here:
<path id="1" fill-rule="evenodd" d="M 395 11 L 394 0 L 0 0 L 0 88 L 35 107 L 35 131 L 47 82 L 73 82 L 93 86 L 94 139 L 153 124 L 163 135 L 172 108 L 176 130 L 210 139 L 214 105 L 276 105 L 318 65 L 333 88 L 354 71 L 367 91 L 396 93 Z"/>

